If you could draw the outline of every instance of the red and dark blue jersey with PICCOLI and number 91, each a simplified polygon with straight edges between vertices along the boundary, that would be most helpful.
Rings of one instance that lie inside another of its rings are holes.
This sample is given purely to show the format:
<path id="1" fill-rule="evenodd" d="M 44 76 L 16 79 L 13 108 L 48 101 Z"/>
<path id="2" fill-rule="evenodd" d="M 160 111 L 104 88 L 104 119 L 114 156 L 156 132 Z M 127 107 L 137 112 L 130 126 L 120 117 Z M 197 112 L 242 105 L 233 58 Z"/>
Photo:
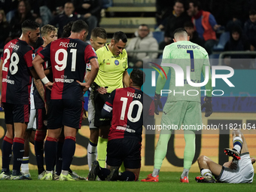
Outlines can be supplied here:
<path id="1" fill-rule="evenodd" d="M 87 62 L 97 58 L 90 44 L 73 38 L 59 38 L 38 53 L 44 61 L 50 60 L 53 70 L 53 88 L 50 99 L 81 99 L 83 90 L 78 81 L 84 81 Z"/>

